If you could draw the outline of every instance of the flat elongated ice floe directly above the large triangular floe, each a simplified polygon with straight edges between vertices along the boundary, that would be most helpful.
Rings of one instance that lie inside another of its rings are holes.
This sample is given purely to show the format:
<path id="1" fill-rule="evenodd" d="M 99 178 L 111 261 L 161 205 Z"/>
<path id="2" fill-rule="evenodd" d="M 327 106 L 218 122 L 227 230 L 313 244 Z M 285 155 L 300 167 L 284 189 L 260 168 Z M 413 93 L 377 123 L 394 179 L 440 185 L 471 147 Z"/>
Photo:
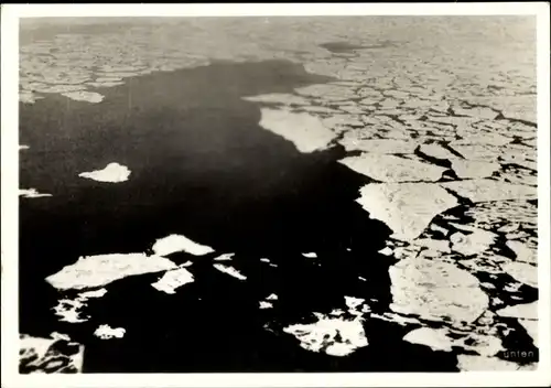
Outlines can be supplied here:
<path id="1" fill-rule="evenodd" d="M 339 163 L 374 180 L 388 183 L 434 182 L 440 180 L 446 170 L 412 159 L 378 153 L 363 153 L 359 157 L 345 158 L 339 160 Z"/>

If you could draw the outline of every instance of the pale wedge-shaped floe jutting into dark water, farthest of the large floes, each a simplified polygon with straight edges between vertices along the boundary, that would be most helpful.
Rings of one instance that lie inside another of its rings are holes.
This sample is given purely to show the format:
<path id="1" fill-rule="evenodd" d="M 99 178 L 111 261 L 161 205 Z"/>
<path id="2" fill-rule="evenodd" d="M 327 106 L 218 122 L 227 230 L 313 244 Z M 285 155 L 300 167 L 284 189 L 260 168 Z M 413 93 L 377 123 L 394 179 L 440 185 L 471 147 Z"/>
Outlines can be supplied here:
<path id="1" fill-rule="evenodd" d="M 261 115 L 260 127 L 291 141 L 303 153 L 324 150 L 336 138 L 320 118 L 309 114 L 261 108 Z"/>

